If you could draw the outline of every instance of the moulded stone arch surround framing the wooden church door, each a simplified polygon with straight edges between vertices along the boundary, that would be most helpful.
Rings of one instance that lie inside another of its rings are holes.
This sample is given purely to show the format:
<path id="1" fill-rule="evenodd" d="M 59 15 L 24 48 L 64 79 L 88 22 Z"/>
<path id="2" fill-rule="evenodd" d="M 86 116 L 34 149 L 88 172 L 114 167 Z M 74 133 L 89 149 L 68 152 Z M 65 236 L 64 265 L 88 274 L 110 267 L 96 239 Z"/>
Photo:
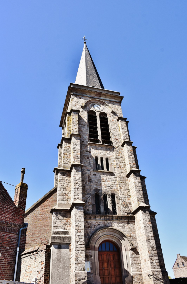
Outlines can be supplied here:
<path id="1" fill-rule="evenodd" d="M 132 284 L 132 270 L 129 250 L 133 247 L 128 237 L 118 229 L 104 227 L 98 229 L 90 237 L 87 249 L 92 252 L 92 269 L 94 284 L 101 284 L 99 277 L 98 247 L 102 241 L 115 243 L 120 252 L 120 262 L 123 284 Z"/>

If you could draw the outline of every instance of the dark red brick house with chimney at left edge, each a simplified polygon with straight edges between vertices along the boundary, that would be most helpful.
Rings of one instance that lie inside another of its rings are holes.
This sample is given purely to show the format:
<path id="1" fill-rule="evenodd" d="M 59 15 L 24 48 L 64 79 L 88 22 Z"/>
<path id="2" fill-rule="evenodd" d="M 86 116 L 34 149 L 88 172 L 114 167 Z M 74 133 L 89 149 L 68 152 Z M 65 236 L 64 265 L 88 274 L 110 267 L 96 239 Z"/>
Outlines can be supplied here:
<path id="1" fill-rule="evenodd" d="M 0 182 L 0 279 L 13 280 L 20 229 L 24 227 L 27 184 L 16 186 L 14 201 Z M 20 251 L 25 250 L 26 230 L 22 230 Z"/>

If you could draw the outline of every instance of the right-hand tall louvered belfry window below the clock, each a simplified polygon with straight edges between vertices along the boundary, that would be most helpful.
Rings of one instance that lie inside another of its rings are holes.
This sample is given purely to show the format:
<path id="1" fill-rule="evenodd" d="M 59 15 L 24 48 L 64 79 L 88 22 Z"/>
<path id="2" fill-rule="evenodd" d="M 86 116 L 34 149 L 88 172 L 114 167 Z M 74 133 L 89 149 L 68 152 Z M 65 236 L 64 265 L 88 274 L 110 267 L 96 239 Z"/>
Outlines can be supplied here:
<path id="1" fill-rule="evenodd" d="M 100 112 L 99 119 L 100 119 L 102 143 L 111 145 L 107 114 L 105 112 Z"/>

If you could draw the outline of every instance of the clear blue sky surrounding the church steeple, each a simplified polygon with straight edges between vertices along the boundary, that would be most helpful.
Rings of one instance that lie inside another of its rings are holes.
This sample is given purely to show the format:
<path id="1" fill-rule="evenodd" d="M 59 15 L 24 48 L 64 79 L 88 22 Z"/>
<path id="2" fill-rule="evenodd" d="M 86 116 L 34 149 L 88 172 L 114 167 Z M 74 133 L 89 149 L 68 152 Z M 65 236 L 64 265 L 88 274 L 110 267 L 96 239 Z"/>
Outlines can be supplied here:
<path id="1" fill-rule="evenodd" d="M 0 179 L 16 185 L 26 168 L 27 208 L 53 188 L 85 35 L 104 87 L 124 96 L 172 277 L 176 254 L 187 256 L 186 13 L 186 0 L 0 1 Z"/>

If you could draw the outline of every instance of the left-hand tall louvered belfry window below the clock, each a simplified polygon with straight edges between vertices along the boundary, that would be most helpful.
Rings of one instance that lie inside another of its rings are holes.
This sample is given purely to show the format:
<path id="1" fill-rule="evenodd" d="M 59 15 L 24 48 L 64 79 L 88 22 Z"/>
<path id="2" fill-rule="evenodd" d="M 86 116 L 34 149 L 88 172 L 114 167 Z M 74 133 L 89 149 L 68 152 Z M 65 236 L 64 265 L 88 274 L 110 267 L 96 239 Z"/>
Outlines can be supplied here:
<path id="1" fill-rule="evenodd" d="M 88 113 L 88 124 L 89 124 L 89 137 L 90 142 L 99 143 L 98 140 L 98 128 L 97 128 L 97 116 L 93 110 Z"/>

